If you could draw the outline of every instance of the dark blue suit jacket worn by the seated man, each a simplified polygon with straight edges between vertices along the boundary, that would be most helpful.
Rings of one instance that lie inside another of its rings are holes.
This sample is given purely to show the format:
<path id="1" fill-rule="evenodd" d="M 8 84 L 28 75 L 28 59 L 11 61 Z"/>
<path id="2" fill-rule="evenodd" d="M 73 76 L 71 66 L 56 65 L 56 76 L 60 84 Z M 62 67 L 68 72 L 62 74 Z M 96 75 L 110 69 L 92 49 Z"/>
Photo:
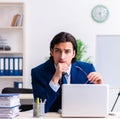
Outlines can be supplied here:
<path id="1" fill-rule="evenodd" d="M 88 80 L 85 73 L 75 66 L 81 67 L 87 74 L 95 71 L 92 64 L 80 61 L 74 62 L 71 66 L 72 84 L 84 84 Z M 47 99 L 45 104 L 45 112 L 56 112 L 61 108 L 61 88 L 55 92 L 49 86 L 49 82 L 51 81 L 54 73 L 55 67 L 53 61 L 51 60 L 48 60 L 31 70 L 34 99 L 37 97 L 42 100 Z"/>

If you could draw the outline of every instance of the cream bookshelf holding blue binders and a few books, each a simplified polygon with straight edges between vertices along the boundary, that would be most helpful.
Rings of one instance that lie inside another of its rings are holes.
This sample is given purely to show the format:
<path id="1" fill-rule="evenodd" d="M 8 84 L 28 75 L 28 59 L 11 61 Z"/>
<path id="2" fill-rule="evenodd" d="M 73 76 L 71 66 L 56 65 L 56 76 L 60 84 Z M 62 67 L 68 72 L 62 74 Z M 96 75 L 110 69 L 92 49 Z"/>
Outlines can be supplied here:
<path id="1" fill-rule="evenodd" d="M 24 3 L 0 2 L 0 91 L 24 82 Z"/>

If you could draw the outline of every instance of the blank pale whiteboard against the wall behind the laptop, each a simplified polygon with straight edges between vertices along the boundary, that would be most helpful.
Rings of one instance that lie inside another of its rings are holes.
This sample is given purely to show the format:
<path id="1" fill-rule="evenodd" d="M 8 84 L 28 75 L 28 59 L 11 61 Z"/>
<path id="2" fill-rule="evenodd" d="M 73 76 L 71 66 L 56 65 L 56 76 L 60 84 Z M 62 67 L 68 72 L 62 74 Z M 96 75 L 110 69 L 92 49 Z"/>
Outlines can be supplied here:
<path id="1" fill-rule="evenodd" d="M 104 83 L 120 88 L 120 35 L 96 37 L 96 70 L 103 75 Z"/>

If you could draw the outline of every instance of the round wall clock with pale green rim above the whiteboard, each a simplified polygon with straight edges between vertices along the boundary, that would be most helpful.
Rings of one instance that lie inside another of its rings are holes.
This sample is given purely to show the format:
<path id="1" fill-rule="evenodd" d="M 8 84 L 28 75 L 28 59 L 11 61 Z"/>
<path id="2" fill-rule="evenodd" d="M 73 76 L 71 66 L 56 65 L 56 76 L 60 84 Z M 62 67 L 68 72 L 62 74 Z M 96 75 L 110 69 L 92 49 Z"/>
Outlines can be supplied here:
<path id="1" fill-rule="evenodd" d="M 94 21 L 102 23 L 107 20 L 109 10 L 104 5 L 97 5 L 92 9 L 91 16 Z"/>

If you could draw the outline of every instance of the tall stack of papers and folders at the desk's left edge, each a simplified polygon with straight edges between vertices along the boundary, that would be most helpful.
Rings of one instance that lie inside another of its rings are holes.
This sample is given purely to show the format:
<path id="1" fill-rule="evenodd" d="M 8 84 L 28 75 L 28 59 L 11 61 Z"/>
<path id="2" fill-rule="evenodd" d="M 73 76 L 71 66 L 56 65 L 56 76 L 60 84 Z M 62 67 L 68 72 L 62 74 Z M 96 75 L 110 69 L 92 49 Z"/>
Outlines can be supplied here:
<path id="1" fill-rule="evenodd" d="M 0 119 L 10 119 L 19 115 L 19 94 L 0 94 Z"/>

